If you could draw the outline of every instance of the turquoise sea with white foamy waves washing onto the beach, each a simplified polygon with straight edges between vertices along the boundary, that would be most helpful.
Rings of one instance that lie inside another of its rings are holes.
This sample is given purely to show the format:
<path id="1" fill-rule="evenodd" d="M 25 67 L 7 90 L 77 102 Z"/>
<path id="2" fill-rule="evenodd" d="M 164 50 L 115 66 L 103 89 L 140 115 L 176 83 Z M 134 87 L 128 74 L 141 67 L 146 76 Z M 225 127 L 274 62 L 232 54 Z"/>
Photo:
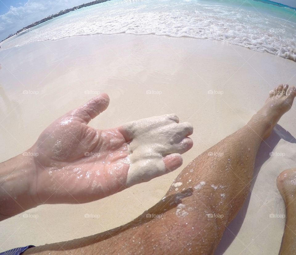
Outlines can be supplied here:
<path id="1" fill-rule="evenodd" d="M 296 61 L 295 12 L 253 0 L 112 0 L 40 24 L 1 49 L 79 35 L 155 34 L 220 40 Z"/>

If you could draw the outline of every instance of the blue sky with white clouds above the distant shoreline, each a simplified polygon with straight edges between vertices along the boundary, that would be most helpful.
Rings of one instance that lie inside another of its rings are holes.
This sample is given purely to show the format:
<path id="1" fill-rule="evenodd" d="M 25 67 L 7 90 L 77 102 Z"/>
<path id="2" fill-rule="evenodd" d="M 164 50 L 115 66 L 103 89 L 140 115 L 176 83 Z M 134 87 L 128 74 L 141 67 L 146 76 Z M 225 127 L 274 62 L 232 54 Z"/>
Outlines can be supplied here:
<path id="1" fill-rule="evenodd" d="M 0 0 L 0 41 L 23 27 L 92 0 Z M 278 0 L 296 7 L 296 0 Z"/>

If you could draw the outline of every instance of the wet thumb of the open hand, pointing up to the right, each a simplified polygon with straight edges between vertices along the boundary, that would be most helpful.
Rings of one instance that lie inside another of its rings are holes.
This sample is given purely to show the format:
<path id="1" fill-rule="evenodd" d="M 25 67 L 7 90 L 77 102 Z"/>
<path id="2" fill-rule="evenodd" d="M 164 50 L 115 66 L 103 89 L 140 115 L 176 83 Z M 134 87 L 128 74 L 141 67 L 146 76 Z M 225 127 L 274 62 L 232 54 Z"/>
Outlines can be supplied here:
<path id="1" fill-rule="evenodd" d="M 107 109 L 109 101 L 109 96 L 106 93 L 102 93 L 89 100 L 86 104 L 70 111 L 66 116 L 78 117 L 85 124 L 88 124 L 89 121 Z"/>

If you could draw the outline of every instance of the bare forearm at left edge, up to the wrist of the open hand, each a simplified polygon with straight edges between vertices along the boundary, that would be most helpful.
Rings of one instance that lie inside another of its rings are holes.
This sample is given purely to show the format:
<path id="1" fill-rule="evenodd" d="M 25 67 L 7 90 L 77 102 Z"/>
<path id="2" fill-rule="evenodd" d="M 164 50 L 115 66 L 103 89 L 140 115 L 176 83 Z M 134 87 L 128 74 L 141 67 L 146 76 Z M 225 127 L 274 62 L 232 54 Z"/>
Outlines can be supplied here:
<path id="1" fill-rule="evenodd" d="M 0 163 L 0 220 L 37 206 L 35 164 L 28 153 Z"/>

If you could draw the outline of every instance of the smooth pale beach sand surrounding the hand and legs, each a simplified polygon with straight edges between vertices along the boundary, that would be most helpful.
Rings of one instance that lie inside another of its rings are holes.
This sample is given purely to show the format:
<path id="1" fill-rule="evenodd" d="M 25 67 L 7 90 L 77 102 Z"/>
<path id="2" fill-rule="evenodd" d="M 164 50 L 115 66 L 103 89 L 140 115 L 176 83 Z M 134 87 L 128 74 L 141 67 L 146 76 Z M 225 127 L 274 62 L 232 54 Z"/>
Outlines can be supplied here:
<path id="1" fill-rule="evenodd" d="M 32 43 L 2 51 L 0 62 L 2 161 L 22 153 L 51 121 L 100 91 L 108 93 L 111 102 L 90 123 L 97 128 L 165 113 L 191 122 L 194 147 L 183 156 L 184 167 L 243 126 L 278 83 L 296 84 L 296 63 L 290 60 L 218 41 L 153 35 Z M 262 143 L 250 201 L 216 254 L 231 241 L 224 254 L 278 254 L 284 219 L 269 215 L 285 212 L 276 177 L 296 165 L 295 117 L 294 108 Z M 269 156 L 271 151 L 286 155 Z M 0 248 L 70 240 L 127 223 L 158 202 L 183 167 L 97 202 L 43 205 L 26 212 L 38 218 L 21 214 L 7 219 L 0 223 Z"/>

